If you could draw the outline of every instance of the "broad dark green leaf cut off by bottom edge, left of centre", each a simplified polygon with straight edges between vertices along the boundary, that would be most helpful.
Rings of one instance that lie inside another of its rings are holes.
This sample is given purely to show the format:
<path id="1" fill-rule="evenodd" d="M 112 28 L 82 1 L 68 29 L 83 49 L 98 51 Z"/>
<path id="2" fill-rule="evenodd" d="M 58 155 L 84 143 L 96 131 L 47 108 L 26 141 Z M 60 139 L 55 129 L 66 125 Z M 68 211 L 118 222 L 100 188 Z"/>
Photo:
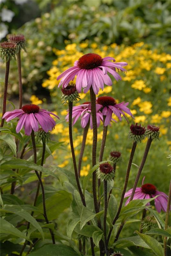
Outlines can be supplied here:
<path id="1" fill-rule="evenodd" d="M 48 244 L 42 246 L 35 252 L 31 252 L 29 256 L 78 256 L 79 254 L 72 247 L 64 244 Z"/>

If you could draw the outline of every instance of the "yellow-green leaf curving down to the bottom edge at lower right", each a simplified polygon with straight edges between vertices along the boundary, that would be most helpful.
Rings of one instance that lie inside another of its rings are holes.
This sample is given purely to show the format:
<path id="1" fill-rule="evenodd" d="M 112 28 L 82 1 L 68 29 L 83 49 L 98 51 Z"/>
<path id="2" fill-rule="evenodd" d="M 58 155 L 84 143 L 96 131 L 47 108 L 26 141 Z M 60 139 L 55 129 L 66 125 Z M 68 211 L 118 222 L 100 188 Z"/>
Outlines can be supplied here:
<path id="1" fill-rule="evenodd" d="M 154 239 L 151 236 L 147 236 L 145 234 L 141 234 L 138 231 L 135 231 L 135 232 L 138 234 L 138 236 L 140 236 L 144 240 L 144 242 L 146 244 L 148 244 L 148 246 L 152 249 L 152 251 L 157 256 L 164 256 L 163 248 L 162 248 L 161 244 L 156 239 Z"/>

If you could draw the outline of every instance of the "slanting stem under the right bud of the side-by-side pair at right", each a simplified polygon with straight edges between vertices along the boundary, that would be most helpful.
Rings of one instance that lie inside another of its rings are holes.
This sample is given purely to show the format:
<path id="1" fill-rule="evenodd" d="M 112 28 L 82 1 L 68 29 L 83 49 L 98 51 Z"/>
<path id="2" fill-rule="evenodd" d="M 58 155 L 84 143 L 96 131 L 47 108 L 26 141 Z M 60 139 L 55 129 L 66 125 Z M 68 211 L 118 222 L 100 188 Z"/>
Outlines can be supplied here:
<path id="1" fill-rule="evenodd" d="M 149 151 L 149 149 L 150 149 L 151 143 L 152 143 L 152 138 L 151 138 L 151 136 L 150 136 L 150 137 L 148 138 L 148 140 L 147 140 L 146 148 L 145 148 L 145 151 L 144 151 L 144 156 L 143 156 L 143 159 L 142 159 L 142 161 L 141 161 L 141 165 L 140 165 L 140 167 L 139 167 L 139 170 L 138 170 L 138 173 L 137 173 L 135 182 L 134 182 L 134 186 L 133 186 L 133 189 L 132 189 L 132 194 L 131 194 L 131 196 L 130 196 L 130 201 L 132 201 L 132 199 L 133 199 L 133 197 L 134 197 L 135 190 L 136 190 L 136 188 L 137 188 L 137 184 L 138 184 L 138 181 L 139 181 L 141 172 L 142 172 L 142 170 L 143 170 L 145 161 L 146 161 L 146 159 L 147 159 L 147 155 L 148 155 L 148 151 Z"/>

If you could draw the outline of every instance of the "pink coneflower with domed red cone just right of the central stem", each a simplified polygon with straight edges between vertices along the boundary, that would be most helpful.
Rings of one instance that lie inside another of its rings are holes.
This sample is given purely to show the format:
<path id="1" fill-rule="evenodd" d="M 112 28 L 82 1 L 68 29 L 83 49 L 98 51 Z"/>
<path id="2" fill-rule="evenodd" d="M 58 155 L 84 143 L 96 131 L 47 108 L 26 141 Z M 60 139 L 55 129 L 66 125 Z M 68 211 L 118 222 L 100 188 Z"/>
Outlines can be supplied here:
<path id="1" fill-rule="evenodd" d="M 103 116 L 106 116 L 105 123 L 104 123 L 105 126 L 110 124 L 110 121 L 112 120 L 116 122 L 116 120 L 112 118 L 112 113 L 114 113 L 119 118 L 120 121 L 121 121 L 121 115 L 125 117 L 125 114 L 123 113 L 123 111 L 133 117 L 133 115 L 130 112 L 130 109 L 127 108 L 127 105 L 129 104 L 129 102 L 127 103 L 121 102 L 117 104 L 114 98 L 110 96 L 102 96 L 97 98 L 96 103 L 97 103 L 96 110 L 97 111 L 101 110 Z M 125 119 L 127 120 L 126 117 Z"/>

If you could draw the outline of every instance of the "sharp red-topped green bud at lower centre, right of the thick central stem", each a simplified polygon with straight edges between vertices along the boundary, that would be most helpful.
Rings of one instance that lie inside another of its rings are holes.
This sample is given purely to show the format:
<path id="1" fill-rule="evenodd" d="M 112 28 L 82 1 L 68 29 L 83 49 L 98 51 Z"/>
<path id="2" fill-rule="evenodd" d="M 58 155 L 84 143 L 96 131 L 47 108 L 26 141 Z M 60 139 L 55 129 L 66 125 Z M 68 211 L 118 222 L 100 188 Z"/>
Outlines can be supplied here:
<path id="1" fill-rule="evenodd" d="M 115 177 L 113 166 L 108 162 L 100 164 L 99 168 L 97 169 L 97 177 L 101 181 L 113 180 Z"/>

